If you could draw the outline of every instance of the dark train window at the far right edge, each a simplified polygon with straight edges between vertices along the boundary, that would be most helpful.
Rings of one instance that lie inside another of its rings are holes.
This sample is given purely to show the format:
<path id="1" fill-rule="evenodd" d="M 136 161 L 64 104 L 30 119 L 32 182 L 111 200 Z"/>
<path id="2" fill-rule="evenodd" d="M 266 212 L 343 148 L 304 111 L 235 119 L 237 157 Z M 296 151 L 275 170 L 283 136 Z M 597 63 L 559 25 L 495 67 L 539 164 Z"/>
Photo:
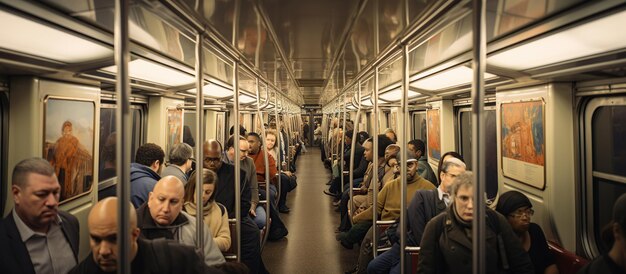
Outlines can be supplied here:
<path id="1" fill-rule="evenodd" d="M 593 231 L 596 247 L 604 254 L 609 246 L 602 240 L 602 231 L 612 219 L 614 202 L 626 193 L 626 105 L 602 105 L 591 115 L 592 162 L 587 164 L 592 166 Z"/>

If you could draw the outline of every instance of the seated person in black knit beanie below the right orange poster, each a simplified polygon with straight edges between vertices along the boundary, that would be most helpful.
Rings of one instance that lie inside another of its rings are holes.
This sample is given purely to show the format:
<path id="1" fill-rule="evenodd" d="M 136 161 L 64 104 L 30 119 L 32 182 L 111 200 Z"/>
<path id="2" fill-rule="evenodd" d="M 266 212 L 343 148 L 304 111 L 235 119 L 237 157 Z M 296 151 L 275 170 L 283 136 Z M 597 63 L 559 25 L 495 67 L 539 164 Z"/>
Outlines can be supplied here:
<path id="1" fill-rule="evenodd" d="M 548 249 L 548 242 L 541 227 L 530 222 L 534 211 L 533 204 L 519 191 L 508 191 L 498 199 L 496 211 L 507 218 L 513 232 L 522 241 L 522 248 L 528 252 L 536 274 L 558 274 L 555 259 Z"/>

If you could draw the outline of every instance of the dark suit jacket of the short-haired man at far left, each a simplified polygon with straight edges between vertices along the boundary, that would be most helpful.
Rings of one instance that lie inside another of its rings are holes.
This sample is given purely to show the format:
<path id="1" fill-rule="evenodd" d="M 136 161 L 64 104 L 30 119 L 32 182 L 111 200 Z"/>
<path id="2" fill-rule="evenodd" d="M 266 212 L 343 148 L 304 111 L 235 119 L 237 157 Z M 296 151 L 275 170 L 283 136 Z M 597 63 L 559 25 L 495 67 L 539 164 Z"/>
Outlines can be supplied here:
<path id="1" fill-rule="evenodd" d="M 59 211 L 61 230 L 70 243 L 74 258 L 78 261 L 79 225 L 73 215 Z M 22 242 L 15 225 L 13 213 L 9 213 L 0 223 L 0 272 L 2 273 L 35 273 L 26 244 Z"/>

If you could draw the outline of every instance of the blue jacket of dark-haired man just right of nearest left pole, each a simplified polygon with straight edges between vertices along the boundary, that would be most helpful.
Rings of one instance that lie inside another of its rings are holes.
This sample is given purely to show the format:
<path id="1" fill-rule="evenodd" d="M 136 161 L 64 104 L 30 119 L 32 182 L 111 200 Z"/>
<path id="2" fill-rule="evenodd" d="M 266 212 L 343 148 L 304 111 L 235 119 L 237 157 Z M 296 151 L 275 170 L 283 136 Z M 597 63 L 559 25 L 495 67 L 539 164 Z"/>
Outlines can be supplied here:
<path id="1" fill-rule="evenodd" d="M 160 179 L 161 176 L 150 167 L 138 163 L 130 164 L 130 201 L 135 208 L 148 200 L 148 194 Z"/>

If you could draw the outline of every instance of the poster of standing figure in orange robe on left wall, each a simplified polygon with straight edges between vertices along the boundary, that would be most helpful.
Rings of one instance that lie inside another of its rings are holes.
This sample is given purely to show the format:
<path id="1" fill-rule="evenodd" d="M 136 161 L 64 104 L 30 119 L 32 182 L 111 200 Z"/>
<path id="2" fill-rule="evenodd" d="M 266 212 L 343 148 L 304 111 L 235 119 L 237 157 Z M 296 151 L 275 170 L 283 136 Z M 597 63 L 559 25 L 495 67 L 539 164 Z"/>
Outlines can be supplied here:
<path id="1" fill-rule="evenodd" d="M 92 101 L 45 101 L 43 158 L 54 167 L 61 202 L 88 193 L 93 185 L 95 111 Z"/>

